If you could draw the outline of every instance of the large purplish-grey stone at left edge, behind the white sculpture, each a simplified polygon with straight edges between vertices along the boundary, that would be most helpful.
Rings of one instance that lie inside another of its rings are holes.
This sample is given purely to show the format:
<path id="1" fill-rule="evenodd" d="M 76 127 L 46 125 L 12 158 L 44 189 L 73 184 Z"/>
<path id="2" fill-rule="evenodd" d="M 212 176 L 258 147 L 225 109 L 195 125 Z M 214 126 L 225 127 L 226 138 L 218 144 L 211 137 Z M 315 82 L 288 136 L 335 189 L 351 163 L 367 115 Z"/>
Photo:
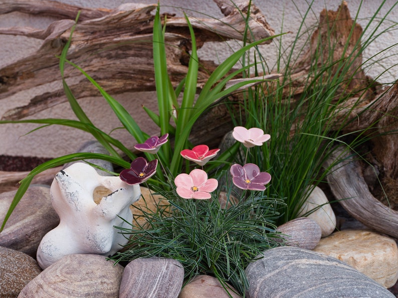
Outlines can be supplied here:
<path id="1" fill-rule="evenodd" d="M 5 218 L 16 192 L 0 194 L 0 220 Z M 58 224 L 59 217 L 51 204 L 50 187 L 31 185 L 0 233 L 0 245 L 35 257 L 43 236 Z"/>

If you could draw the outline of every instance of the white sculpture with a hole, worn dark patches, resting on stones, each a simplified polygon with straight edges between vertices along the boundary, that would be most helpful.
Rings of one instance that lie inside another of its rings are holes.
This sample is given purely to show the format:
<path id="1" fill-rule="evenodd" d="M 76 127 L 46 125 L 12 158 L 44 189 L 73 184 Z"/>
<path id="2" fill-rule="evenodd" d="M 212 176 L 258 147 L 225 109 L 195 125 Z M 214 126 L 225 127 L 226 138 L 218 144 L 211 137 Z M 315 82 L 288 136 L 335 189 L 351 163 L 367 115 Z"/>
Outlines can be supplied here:
<path id="1" fill-rule="evenodd" d="M 93 192 L 98 186 L 111 193 L 96 204 Z M 114 226 L 128 226 L 124 220 L 132 222 L 129 206 L 140 198 L 138 184 L 128 185 L 116 176 L 100 176 L 93 167 L 79 162 L 55 176 L 50 194 L 60 224 L 40 242 L 37 261 L 43 269 L 73 253 L 110 256 L 128 242 Z"/>

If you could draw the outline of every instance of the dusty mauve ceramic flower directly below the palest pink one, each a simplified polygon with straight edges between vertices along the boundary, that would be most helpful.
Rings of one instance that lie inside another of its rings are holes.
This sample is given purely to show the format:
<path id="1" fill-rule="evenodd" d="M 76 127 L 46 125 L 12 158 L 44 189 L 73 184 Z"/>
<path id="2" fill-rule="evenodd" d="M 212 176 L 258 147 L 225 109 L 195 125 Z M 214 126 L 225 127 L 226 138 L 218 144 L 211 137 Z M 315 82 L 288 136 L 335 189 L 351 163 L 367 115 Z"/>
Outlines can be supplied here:
<path id="1" fill-rule="evenodd" d="M 271 175 L 260 172 L 260 168 L 254 163 L 244 166 L 234 164 L 231 166 L 232 182 L 241 189 L 265 190 L 265 184 L 271 181 Z"/>

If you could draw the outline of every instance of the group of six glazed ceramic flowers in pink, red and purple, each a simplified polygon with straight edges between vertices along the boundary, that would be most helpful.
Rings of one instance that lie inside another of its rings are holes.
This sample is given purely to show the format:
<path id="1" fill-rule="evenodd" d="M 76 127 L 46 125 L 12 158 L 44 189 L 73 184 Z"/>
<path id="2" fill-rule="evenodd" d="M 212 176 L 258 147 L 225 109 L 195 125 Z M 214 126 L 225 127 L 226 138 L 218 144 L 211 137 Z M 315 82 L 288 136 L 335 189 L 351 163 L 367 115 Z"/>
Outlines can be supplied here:
<path id="1" fill-rule="evenodd" d="M 246 129 L 242 126 L 234 128 L 233 137 L 241 142 L 247 150 L 254 146 L 261 146 L 268 141 L 271 136 L 264 134 L 260 128 Z M 147 139 L 143 144 L 137 144 L 135 149 L 151 154 L 157 154 L 160 147 L 167 142 L 168 134 L 160 138 L 154 136 Z M 189 174 L 179 174 L 174 179 L 177 194 L 184 199 L 210 199 L 211 193 L 218 187 L 218 181 L 208 178 L 208 174 L 203 170 L 203 166 L 212 158 L 216 157 L 220 149 L 210 150 L 206 145 L 198 145 L 180 152 L 181 156 L 189 161 L 193 161 L 202 169 L 193 169 Z M 140 184 L 152 177 L 156 172 L 157 159 L 147 162 L 145 158 L 134 159 L 129 169 L 120 173 L 120 179 L 129 185 Z M 245 165 L 234 164 L 230 169 L 233 183 L 244 190 L 266 189 L 265 185 L 271 181 L 271 175 L 261 172 L 260 168 L 253 163 Z"/>

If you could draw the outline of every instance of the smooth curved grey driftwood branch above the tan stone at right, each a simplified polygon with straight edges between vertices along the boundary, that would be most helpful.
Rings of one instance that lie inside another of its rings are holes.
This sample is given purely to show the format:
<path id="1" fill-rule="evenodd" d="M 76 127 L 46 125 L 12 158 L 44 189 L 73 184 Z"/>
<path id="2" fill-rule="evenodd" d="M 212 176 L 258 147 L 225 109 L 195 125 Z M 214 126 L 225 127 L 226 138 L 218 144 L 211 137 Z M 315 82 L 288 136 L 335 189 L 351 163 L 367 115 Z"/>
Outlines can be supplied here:
<path id="1" fill-rule="evenodd" d="M 340 163 L 334 164 L 336 160 Z M 339 203 L 355 219 L 378 232 L 398 238 L 398 212 L 382 204 L 370 193 L 361 166 L 347 149 L 337 149 L 327 166 L 327 180 Z"/>

